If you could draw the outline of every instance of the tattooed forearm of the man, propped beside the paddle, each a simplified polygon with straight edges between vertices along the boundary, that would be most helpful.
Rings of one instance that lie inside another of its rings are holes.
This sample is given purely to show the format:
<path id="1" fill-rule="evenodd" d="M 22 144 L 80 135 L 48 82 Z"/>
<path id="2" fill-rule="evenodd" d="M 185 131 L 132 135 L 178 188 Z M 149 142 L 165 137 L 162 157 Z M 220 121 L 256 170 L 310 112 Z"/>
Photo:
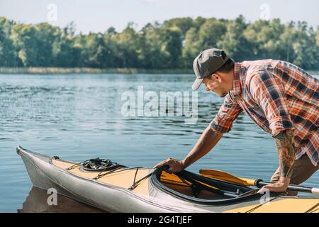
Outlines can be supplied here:
<path id="1" fill-rule="evenodd" d="M 291 177 L 293 162 L 295 160 L 295 145 L 293 130 L 286 130 L 275 137 L 279 156 L 279 168 L 281 177 Z"/>

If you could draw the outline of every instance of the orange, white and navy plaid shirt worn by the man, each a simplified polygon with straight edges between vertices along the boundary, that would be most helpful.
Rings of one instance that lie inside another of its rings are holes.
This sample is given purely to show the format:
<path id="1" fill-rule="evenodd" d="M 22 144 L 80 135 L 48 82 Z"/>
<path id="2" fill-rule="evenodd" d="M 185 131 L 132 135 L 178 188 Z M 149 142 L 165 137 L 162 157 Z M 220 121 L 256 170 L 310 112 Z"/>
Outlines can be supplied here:
<path id="1" fill-rule="evenodd" d="M 233 90 L 210 123 L 228 133 L 245 111 L 273 137 L 286 129 L 295 135 L 296 159 L 304 153 L 313 165 L 319 151 L 319 80 L 289 62 L 259 60 L 235 63 Z"/>

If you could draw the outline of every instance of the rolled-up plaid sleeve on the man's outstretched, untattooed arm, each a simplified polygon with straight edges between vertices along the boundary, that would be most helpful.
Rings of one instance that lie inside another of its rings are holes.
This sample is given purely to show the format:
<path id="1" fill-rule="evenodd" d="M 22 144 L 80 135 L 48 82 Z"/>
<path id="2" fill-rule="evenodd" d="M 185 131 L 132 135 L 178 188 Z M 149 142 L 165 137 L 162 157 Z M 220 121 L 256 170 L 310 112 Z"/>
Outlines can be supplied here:
<path id="1" fill-rule="evenodd" d="M 232 129 L 233 121 L 241 112 L 242 108 L 228 94 L 210 126 L 216 133 L 228 133 Z"/>

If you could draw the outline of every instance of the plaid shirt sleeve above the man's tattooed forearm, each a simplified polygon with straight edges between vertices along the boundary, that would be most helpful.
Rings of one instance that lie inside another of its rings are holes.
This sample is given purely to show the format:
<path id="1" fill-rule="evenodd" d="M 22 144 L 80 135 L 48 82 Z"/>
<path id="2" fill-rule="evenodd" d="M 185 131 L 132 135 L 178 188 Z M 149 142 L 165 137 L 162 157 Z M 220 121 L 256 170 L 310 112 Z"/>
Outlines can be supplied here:
<path id="1" fill-rule="evenodd" d="M 281 79 L 270 72 L 260 72 L 250 80 L 249 89 L 254 101 L 264 111 L 273 137 L 281 131 L 294 129 Z"/>

